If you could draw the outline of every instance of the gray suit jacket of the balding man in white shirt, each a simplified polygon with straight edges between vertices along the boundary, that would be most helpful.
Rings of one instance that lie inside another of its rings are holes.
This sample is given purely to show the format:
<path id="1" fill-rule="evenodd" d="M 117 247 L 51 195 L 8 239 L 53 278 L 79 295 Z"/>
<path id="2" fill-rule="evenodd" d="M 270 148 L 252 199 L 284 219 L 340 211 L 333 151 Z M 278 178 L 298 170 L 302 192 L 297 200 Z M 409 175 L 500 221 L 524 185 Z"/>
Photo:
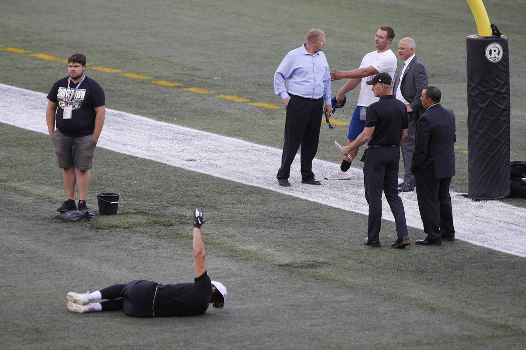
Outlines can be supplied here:
<path id="1" fill-rule="evenodd" d="M 400 92 L 403 98 L 409 102 L 412 110 L 416 112 L 414 117 L 418 119 L 420 115 L 426 112 L 420 101 L 422 90 L 428 86 L 426 67 L 424 67 L 422 61 L 417 56 L 414 56 L 411 62 L 409 62 L 406 71 L 403 72 L 403 77 L 400 77 L 401 71 L 402 68 L 400 68 L 395 79 L 393 94 L 396 95 L 398 84 L 401 81 Z"/>

